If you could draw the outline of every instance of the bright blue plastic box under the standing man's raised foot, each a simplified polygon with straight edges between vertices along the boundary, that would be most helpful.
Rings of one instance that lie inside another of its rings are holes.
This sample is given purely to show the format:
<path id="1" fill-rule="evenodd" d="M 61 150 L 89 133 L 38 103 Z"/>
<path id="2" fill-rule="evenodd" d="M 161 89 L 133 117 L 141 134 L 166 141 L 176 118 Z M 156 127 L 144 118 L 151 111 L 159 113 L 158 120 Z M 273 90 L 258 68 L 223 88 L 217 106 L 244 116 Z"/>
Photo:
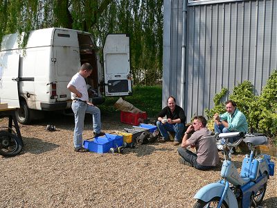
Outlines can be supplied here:
<path id="1" fill-rule="evenodd" d="M 108 153 L 110 148 L 117 148 L 123 145 L 123 136 L 106 134 L 102 137 L 95 137 L 92 141 L 84 140 L 84 148 L 94 153 Z"/>

